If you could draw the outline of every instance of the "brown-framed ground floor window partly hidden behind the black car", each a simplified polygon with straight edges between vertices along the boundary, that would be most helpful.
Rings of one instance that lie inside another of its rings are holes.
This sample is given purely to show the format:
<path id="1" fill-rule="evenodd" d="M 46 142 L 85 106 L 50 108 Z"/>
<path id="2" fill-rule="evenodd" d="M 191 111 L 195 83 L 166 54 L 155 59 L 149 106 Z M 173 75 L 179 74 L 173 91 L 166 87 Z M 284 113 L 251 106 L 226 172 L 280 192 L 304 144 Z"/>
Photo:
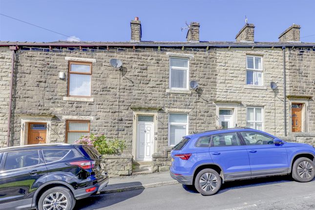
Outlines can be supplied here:
<path id="1" fill-rule="evenodd" d="M 81 136 L 90 134 L 90 121 L 67 120 L 66 143 L 74 144 Z"/>

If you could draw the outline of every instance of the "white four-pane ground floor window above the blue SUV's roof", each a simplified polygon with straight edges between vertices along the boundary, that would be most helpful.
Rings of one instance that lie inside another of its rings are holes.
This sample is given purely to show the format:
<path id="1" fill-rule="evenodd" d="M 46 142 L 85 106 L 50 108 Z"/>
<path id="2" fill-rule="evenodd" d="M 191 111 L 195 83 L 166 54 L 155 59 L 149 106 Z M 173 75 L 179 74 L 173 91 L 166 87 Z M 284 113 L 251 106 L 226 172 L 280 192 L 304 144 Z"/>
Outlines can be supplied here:
<path id="1" fill-rule="evenodd" d="M 263 129 L 263 108 L 262 107 L 247 107 L 247 122 L 246 126 L 262 130 Z"/>

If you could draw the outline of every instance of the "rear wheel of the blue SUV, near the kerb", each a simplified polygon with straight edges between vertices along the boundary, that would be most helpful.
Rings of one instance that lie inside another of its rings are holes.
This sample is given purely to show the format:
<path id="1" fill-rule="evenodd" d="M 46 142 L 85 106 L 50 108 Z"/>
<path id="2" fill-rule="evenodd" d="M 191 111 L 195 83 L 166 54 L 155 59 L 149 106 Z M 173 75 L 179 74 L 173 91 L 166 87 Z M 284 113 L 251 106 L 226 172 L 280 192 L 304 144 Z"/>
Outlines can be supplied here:
<path id="1" fill-rule="evenodd" d="M 221 177 L 213 169 L 203 169 L 195 178 L 195 188 L 202 195 L 213 195 L 221 188 Z"/>

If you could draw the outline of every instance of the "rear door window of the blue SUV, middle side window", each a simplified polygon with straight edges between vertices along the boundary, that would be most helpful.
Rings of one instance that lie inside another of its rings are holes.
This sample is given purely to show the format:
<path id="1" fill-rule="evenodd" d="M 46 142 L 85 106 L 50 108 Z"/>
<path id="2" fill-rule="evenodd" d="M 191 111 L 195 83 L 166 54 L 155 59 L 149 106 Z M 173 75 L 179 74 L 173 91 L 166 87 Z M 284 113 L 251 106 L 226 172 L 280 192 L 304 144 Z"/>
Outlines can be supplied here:
<path id="1" fill-rule="evenodd" d="M 235 132 L 213 135 L 211 147 L 240 146 L 241 143 Z"/>

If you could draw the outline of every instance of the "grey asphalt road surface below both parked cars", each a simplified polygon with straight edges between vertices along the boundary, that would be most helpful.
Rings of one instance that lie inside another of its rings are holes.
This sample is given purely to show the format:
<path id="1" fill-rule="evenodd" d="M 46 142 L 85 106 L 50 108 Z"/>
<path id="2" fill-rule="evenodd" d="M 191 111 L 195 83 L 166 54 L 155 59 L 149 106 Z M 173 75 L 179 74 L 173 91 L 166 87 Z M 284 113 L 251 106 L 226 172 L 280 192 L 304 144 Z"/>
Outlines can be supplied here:
<path id="1" fill-rule="evenodd" d="M 315 210 L 314 198 L 314 180 L 275 176 L 226 182 L 211 196 L 181 184 L 106 193 L 77 201 L 75 210 Z"/>

